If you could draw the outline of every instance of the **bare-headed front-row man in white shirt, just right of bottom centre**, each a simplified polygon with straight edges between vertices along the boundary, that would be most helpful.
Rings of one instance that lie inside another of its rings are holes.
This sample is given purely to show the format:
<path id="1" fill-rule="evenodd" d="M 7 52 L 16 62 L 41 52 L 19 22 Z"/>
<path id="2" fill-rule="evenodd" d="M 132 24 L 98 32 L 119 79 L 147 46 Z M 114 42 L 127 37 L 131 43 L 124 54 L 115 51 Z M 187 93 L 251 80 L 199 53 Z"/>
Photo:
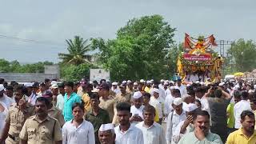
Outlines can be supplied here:
<path id="1" fill-rule="evenodd" d="M 145 106 L 143 109 L 144 121 L 136 126 L 142 130 L 144 144 L 166 144 L 165 132 L 162 126 L 154 122 L 154 106 Z"/>

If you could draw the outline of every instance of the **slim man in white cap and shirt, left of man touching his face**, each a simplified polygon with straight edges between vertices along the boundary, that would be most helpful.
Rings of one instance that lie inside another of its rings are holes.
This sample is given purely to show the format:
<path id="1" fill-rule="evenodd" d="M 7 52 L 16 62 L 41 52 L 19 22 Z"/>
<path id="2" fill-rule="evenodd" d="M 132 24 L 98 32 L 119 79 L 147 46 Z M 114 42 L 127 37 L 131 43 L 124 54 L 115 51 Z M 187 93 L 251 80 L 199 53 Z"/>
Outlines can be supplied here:
<path id="1" fill-rule="evenodd" d="M 174 130 L 176 130 L 178 123 L 186 119 L 186 112 L 182 110 L 182 98 L 174 98 L 172 104 L 174 111 L 168 115 L 167 127 L 166 127 L 166 142 L 171 144 Z"/>

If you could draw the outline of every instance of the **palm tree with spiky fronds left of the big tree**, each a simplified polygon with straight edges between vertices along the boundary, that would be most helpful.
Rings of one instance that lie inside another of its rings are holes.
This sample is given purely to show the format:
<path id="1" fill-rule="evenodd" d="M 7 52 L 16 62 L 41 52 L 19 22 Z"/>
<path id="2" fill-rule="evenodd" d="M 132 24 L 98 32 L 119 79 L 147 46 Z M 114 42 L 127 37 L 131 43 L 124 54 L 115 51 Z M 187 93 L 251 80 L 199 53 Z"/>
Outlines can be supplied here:
<path id="1" fill-rule="evenodd" d="M 58 57 L 62 59 L 62 62 L 74 64 L 76 66 L 85 62 L 90 63 L 91 55 L 86 54 L 86 52 L 90 51 L 90 44 L 86 45 L 87 41 L 88 39 L 84 41 L 83 38 L 79 36 L 74 36 L 73 41 L 71 39 L 66 40 L 69 54 L 60 53 L 58 54 Z"/>

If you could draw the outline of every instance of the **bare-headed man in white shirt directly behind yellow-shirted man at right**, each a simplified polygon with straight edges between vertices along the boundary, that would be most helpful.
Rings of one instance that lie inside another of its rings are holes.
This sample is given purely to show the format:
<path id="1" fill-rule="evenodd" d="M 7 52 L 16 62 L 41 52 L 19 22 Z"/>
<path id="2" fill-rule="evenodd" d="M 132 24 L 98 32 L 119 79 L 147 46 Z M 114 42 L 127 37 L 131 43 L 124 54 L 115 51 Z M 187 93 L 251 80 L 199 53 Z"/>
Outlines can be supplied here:
<path id="1" fill-rule="evenodd" d="M 250 102 L 248 102 L 249 94 L 247 91 L 242 91 L 242 100 L 234 105 L 234 128 L 239 129 L 241 125 L 241 114 L 244 110 L 251 110 Z"/>

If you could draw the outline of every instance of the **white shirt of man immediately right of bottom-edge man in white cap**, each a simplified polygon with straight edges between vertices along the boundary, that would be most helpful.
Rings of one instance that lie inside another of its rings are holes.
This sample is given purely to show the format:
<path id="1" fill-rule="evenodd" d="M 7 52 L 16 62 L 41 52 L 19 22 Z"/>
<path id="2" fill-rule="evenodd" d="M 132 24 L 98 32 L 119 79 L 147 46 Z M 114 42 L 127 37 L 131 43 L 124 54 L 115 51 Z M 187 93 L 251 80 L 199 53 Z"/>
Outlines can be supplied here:
<path id="1" fill-rule="evenodd" d="M 143 134 L 142 130 L 139 130 L 137 127 L 130 125 L 129 129 L 125 132 L 122 132 L 119 126 L 114 128 L 115 144 L 143 144 Z"/>

